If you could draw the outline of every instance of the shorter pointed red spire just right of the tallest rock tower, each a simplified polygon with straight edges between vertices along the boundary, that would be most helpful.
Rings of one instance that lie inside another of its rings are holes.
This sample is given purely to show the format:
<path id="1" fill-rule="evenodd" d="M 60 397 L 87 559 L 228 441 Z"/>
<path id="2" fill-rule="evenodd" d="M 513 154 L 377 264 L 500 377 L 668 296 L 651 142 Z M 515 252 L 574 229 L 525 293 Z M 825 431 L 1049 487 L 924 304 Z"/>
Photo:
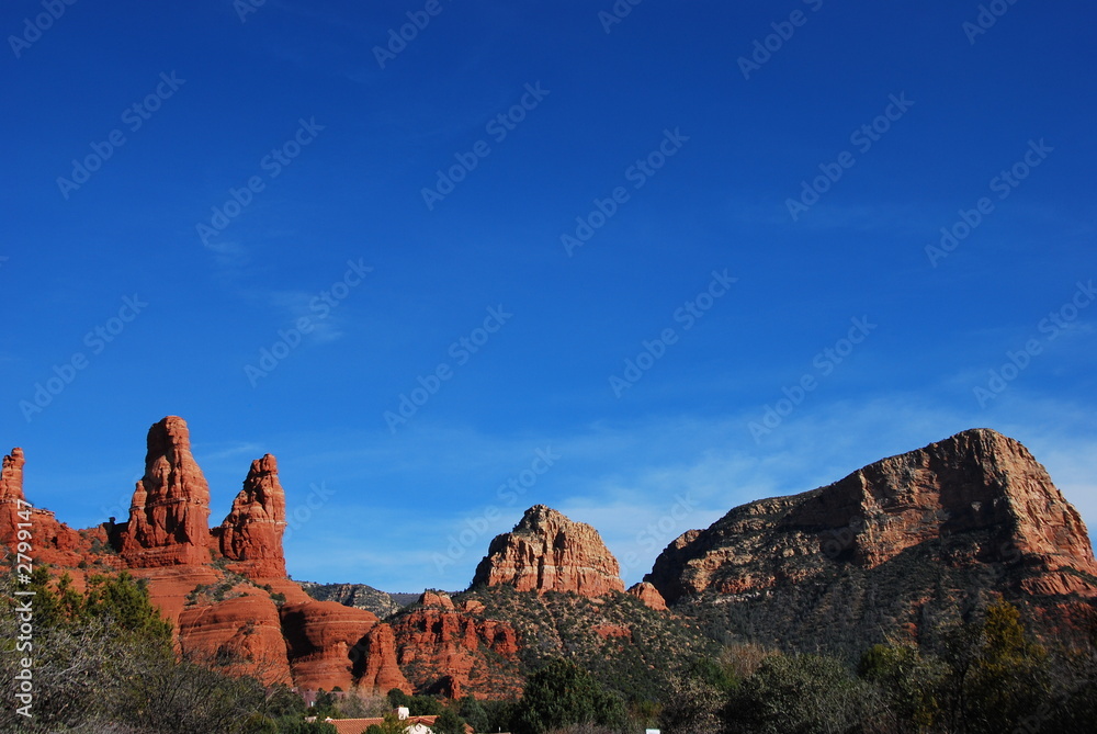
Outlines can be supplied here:
<path id="1" fill-rule="evenodd" d="M 283 578 L 285 526 L 285 492 L 278 478 L 278 461 L 267 454 L 251 462 L 251 471 L 233 500 L 233 509 L 212 533 L 222 555 L 238 562 L 238 571 L 245 575 Z"/>

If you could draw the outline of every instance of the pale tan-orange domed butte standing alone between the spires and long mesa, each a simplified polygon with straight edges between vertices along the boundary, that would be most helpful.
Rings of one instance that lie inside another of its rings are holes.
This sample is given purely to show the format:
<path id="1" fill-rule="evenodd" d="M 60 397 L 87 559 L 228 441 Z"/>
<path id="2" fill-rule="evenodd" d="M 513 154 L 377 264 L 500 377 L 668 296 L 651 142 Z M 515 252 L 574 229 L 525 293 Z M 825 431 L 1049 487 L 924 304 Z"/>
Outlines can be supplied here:
<path id="1" fill-rule="evenodd" d="M 491 541 L 473 586 L 497 585 L 586 597 L 624 591 L 621 567 L 598 531 L 544 505 L 525 510 L 513 531 Z"/>

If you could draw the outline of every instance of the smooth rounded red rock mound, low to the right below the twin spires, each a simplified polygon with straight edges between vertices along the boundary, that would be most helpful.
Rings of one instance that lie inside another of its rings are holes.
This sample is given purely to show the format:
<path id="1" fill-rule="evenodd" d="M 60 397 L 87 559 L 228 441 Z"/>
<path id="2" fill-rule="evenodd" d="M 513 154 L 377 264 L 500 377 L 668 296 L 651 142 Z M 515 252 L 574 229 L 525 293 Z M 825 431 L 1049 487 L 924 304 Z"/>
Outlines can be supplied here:
<path id="1" fill-rule="evenodd" d="M 284 605 L 281 617 L 297 686 L 350 690 L 361 682 L 367 693 L 385 693 L 392 688 L 411 692 L 396 664 L 392 631 L 370 636 L 375 628 L 387 628 L 372 612 L 335 601 L 306 601 Z M 377 688 L 384 685 L 388 687 Z"/>

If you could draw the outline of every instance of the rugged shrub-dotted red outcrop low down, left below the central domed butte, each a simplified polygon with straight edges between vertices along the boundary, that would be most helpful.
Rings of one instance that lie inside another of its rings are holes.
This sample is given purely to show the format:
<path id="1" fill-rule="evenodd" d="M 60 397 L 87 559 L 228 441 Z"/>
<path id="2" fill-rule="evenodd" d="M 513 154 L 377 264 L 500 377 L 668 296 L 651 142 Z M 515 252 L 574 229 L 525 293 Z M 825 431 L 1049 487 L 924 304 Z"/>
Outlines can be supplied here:
<path id="1" fill-rule="evenodd" d="M 427 591 L 393 623 L 399 663 L 415 673 L 417 689 L 484 697 L 521 687 L 518 635 L 507 622 L 479 618 L 483 608 L 470 601 L 459 611 L 449 595 Z"/>

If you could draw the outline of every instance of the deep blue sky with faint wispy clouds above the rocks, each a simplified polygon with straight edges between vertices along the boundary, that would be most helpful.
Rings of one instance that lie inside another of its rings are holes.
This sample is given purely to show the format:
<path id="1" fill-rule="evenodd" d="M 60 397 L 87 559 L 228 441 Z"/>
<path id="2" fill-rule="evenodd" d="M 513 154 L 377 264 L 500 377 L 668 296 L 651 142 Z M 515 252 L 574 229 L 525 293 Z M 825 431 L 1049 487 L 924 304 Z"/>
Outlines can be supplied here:
<path id="1" fill-rule="evenodd" d="M 181 415 L 295 578 L 460 589 L 543 502 L 633 583 L 991 427 L 1093 528 L 1097 11 L 737 4 L 5 3 L 30 498 L 125 517 Z"/>

